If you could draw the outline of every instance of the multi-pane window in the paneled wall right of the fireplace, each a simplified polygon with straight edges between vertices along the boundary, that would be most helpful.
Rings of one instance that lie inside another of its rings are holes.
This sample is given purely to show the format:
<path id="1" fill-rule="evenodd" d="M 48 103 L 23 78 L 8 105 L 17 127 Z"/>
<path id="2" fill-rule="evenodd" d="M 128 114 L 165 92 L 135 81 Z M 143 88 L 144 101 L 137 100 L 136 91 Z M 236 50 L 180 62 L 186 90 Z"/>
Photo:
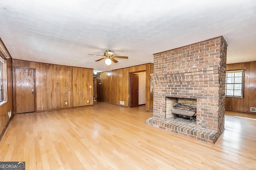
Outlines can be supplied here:
<path id="1" fill-rule="evenodd" d="M 244 70 L 226 72 L 226 96 L 242 97 Z"/>

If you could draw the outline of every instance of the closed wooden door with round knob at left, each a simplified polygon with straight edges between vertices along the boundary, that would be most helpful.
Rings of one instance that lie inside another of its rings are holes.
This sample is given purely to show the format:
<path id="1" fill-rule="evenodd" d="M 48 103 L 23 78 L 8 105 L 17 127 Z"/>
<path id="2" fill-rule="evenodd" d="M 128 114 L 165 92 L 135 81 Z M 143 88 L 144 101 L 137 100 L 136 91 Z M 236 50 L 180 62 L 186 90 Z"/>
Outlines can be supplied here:
<path id="1" fill-rule="evenodd" d="M 15 68 L 16 113 L 35 111 L 34 69 Z"/>

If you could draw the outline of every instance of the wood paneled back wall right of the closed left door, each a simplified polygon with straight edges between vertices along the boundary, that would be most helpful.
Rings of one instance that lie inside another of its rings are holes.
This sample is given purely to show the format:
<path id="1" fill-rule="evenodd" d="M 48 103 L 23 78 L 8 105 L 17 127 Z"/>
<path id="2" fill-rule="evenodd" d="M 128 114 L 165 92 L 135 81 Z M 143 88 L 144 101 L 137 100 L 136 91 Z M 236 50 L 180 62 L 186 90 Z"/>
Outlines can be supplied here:
<path id="1" fill-rule="evenodd" d="M 36 68 L 37 111 L 93 105 L 91 68 L 21 60 L 13 60 L 13 66 Z"/>

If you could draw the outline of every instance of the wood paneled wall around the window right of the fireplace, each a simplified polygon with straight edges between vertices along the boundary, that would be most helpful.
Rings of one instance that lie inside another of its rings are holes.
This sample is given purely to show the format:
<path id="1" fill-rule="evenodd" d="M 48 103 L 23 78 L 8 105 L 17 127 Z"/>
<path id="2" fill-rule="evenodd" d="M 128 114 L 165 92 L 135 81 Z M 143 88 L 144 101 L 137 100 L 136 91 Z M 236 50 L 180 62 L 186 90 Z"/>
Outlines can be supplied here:
<path id="1" fill-rule="evenodd" d="M 256 107 L 256 61 L 227 64 L 227 71 L 238 69 L 245 69 L 244 97 L 226 97 L 226 110 L 255 113 L 250 112 L 250 107 Z"/>

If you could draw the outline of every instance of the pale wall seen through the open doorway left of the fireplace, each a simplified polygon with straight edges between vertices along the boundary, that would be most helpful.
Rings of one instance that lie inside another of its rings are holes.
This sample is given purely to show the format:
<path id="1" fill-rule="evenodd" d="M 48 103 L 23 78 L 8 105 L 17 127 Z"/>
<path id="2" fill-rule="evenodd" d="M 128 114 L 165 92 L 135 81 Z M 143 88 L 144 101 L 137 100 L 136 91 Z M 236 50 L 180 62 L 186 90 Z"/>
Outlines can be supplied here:
<path id="1" fill-rule="evenodd" d="M 146 72 L 136 72 L 139 75 L 139 105 L 146 104 Z"/>

